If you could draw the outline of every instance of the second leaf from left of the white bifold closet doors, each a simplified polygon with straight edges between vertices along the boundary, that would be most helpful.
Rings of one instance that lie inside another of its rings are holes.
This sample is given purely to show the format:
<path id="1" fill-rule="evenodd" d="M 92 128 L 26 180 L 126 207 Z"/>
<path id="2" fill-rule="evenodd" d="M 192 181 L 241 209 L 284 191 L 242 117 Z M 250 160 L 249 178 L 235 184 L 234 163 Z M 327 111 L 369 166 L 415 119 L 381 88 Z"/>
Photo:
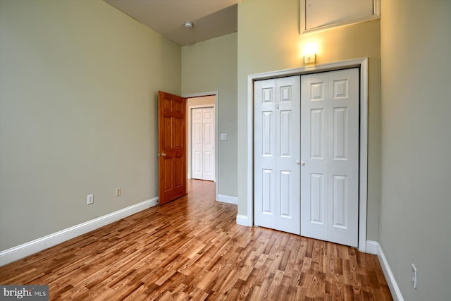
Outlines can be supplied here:
<path id="1" fill-rule="evenodd" d="M 300 234 L 300 78 L 276 80 L 276 229 Z"/>

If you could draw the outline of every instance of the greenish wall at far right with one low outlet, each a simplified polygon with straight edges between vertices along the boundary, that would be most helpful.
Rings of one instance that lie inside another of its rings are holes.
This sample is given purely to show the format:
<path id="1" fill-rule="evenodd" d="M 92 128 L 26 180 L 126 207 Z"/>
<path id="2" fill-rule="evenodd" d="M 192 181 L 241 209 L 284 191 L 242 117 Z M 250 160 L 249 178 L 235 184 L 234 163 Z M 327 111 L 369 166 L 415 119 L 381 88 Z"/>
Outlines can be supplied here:
<path id="1" fill-rule="evenodd" d="M 404 300 L 450 300 L 451 1 L 383 0 L 381 11 L 379 242 Z"/>

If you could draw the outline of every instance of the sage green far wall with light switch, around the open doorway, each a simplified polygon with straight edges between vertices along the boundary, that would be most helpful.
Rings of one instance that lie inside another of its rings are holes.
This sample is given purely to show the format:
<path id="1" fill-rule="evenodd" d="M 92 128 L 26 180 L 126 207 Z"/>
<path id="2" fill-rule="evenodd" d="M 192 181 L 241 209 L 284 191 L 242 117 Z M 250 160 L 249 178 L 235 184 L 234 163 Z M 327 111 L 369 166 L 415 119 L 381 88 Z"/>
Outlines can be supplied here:
<path id="1" fill-rule="evenodd" d="M 218 91 L 218 193 L 237 196 L 237 33 L 182 47 L 182 94 Z"/>

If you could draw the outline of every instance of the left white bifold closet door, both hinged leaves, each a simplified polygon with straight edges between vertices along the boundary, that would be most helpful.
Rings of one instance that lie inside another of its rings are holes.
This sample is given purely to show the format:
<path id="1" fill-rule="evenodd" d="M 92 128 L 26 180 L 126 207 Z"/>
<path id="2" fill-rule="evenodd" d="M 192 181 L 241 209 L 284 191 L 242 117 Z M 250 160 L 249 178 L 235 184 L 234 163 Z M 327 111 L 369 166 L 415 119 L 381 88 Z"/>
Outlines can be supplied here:
<path id="1" fill-rule="evenodd" d="M 300 77 L 254 83 L 254 223 L 300 234 Z"/>

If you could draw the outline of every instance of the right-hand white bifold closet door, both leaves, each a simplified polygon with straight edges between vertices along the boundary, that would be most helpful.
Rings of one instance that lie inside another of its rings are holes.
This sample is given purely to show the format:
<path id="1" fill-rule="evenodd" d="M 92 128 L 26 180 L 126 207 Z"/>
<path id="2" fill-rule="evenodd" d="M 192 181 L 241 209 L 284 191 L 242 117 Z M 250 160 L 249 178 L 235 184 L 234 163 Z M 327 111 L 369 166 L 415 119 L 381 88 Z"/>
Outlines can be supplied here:
<path id="1" fill-rule="evenodd" d="M 301 77 L 301 235 L 357 247 L 359 69 Z"/>

